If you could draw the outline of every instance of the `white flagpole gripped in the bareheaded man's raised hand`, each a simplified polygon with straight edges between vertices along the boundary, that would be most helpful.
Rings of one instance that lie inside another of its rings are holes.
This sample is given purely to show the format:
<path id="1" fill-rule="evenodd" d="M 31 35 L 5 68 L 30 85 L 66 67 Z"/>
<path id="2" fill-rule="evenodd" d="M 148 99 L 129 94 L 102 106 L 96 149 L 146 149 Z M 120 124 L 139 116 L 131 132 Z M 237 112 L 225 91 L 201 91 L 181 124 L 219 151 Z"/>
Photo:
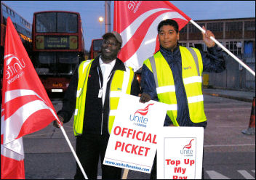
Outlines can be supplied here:
<path id="1" fill-rule="evenodd" d="M 205 30 L 203 28 L 200 27 L 200 25 L 198 25 L 197 23 L 195 23 L 193 20 L 190 20 L 190 22 L 196 26 L 196 28 L 199 28 L 199 30 L 201 30 L 203 33 L 205 33 Z M 210 36 L 210 38 L 212 39 L 212 41 L 215 41 L 215 43 L 220 46 L 225 52 L 227 52 L 229 55 L 231 55 L 231 57 L 233 57 L 233 59 L 235 59 L 237 62 L 239 62 L 242 66 L 244 66 L 244 68 L 246 68 L 247 70 L 249 70 L 249 73 L 252 73 L 252 75 L 255 76 L 255 72 L 249 68 L 246 64 L 244 64 L 244 62 L 242 62 L 241 60 L 239 60 L 238 57 L 236 57 L 232 52 L 230 52 L 228 49 L 225 48 L 225 46 L 223 46 L 222 44 L 220 44 L 219 41 L 217 41 L 214 37 Z"/>

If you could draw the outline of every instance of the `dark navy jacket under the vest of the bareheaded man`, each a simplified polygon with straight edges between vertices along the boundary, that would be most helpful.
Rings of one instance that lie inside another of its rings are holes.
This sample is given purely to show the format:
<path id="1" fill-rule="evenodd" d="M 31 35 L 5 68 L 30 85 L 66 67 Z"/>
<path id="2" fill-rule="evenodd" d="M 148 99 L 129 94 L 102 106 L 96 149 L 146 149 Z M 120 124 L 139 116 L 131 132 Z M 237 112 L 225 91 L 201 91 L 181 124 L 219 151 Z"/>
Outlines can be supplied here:
<path id="1" fill-rule="evenodd" d="M 172 75 L 175 81 L 175 93 L 177 97 L 177 123 L 180 126 L 207 126 L 207 121 L 203 123 L 193 123 L 189 116 L 188 111 L 188 101 L 185 94 L 185 88 L 183 85 L 182 78 L 182 65 L 181 65 L 181 54 L 179 44 L 173 52 L 164 49 L 160 46 L 160 52 L 164 56 L 164 59 L 167 60 L 169 67 L 172 70 Z M 220 73 L 225 70 L 225 61 L 223 59 L 222 49 L 215 45 L 212 48 L 207 49 L 207 53 L 201 52 L 201 57 L 203 61 L 203 71 Z M 156 84 L 153 78 L 153 73 L 148 69 L 146 65 L 143 65 L 142 75 L 141 75 L 141 89 L 143 92 L 150 94 L 151 99 L 158 101 L 156 94 Z M 172 121 L 169 119 L 169 116 L 166 115 L 165 122 Z M 167 126 L 167 124 L 165 124 Z"/>

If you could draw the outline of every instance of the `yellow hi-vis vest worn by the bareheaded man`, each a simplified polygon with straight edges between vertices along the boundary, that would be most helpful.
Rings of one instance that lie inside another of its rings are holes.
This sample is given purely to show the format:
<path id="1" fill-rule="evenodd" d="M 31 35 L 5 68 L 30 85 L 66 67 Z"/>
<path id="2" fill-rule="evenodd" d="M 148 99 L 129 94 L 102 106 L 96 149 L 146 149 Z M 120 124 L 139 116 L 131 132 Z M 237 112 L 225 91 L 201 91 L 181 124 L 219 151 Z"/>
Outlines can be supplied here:
<path id="1" fill-rule="evenodd" d="M 203 64 L 198 49 L 180 46 L 182 58 L 182 75 L 185 93 L 188 99 L 188 110 L 193 123 L 201 123 L 207 120 L 204 114 L 204 99 L 201 92 L 201 73 Z M 156 82 L 156 92 L 159 102 L 169 105 L 167 115 L 175 126 L 177 123 L 177 98 L 172 70 L 161 52 L 145 60 L 145 65 L 153 73 Z"/>

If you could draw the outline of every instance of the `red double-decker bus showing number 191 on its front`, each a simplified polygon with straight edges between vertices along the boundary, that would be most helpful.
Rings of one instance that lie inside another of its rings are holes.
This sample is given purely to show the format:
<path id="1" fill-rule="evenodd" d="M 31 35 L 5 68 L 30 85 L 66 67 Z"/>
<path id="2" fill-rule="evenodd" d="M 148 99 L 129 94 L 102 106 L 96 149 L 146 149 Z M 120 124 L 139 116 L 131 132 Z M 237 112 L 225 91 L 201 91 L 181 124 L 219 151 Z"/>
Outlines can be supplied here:
<path id="1" fill-rule="evenodd" d="M 64 92 L 84 60 L 84 37 L 78 12 L 33 14 L 33 65 L 49 95 Z"/>

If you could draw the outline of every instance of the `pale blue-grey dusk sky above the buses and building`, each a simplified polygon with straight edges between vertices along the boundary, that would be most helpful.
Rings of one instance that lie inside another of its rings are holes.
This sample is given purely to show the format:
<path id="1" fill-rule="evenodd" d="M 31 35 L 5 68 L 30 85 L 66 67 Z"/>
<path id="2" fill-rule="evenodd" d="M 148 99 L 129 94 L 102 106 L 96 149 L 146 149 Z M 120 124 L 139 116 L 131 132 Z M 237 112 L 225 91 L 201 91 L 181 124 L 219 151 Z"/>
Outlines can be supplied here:
<path id="1" fill-rule="evenodd" d="M 255 17 L 255 1 L 171 1 L 192 20 Z M 85 48 L 93 38 L 100 38 L 98 17 L 105 16 L 105 1 L 4 1 L 25 20 L 32 23 L 33 12 L 66 10 L 79 12 L 84 28 Z M 113 1 L 111 1 L 111 30 L 113 30 Z M 105 25 L 102 25 L 105 32 Z"/>

